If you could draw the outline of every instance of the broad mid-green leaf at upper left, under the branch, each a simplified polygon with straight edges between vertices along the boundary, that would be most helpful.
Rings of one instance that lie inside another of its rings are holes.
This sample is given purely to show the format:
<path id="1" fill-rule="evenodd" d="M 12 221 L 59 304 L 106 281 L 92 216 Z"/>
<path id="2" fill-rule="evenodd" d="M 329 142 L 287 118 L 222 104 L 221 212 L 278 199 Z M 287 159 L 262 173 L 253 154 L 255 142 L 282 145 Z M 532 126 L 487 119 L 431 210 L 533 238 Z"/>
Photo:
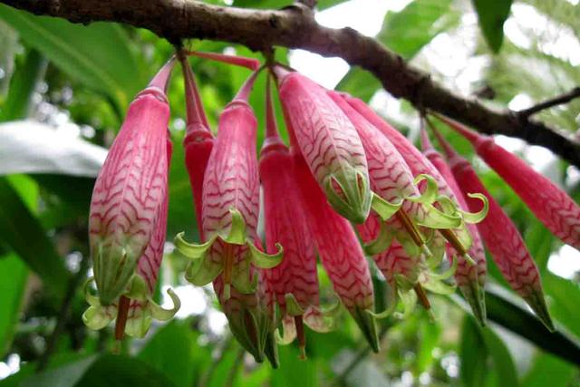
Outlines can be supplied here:
<path id="1" fill-rule="evenodd" d="M 71 24 L 6 5 L 0 6 L 0 18 L 20 34 L 25 44 L 43 53 L 76 81 L 109 96 L 120 111 L 146 83 L 120 25 Z"/>

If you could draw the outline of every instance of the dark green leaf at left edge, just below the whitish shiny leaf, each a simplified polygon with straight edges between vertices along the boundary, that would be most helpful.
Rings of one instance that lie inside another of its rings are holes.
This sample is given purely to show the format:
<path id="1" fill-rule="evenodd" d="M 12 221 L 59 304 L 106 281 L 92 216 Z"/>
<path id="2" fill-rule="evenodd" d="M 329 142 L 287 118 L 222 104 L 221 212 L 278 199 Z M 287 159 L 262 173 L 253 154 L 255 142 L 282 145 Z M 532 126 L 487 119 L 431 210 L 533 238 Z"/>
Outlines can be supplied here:
<path id="1" fill-rule="evenodd" d="M 37 218 L 5 178 L 0 178 L 0 240 L 40 276 L 54 296 L 64 295 L 69 273 Z"/>

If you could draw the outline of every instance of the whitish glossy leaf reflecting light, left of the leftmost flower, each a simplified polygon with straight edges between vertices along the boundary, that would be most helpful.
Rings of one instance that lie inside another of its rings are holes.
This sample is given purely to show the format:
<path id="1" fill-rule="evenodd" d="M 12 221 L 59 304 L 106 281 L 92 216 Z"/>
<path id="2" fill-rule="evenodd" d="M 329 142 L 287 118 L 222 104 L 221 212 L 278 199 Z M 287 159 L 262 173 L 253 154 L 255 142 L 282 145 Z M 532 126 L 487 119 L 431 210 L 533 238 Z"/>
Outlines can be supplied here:
<path id="1" fill-rule="evenodd" d="M 96 177 L 107 150 L 34 121 L 0 124 L 0 175 L 56 173 Z"/>

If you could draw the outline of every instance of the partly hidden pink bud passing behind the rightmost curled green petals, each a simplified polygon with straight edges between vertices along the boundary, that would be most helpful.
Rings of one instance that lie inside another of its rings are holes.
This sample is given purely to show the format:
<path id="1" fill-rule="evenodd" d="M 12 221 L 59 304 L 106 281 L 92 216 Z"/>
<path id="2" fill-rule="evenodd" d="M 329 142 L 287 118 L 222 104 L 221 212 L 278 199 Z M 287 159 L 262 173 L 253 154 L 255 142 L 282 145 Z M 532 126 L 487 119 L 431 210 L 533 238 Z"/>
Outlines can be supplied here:
<path id="1" fill-rule="evenodd" d="M 439 132 L 435 131 L 435 133 L 439 138 Z M 422 128 L 420 136 L 423 154 L 431 161 L 435 168 L 440 171 L 440 174 L 447 182 L 449 189 L 451 189 L 455 194 L 459 206 L 465 210 L 469 210 L 468 204 L 465 201 L 465 198 L 463 198 L 463 193 L 453 177 L 453 172 L 449 168 L 449 165 L 447 165 L 447 162 L 443 159 L 440 152 L 435 150 L 431 145 L 427 131 Z M 447 255 L 449 260 L 457 259 L 458 267 L 455 272 L 455 281 L 457 285 L 459 285 L 461 293 L 468 300 L 471 310 L 478 319 L 479 324 L 485 324 L 486 304 L 484 286 L 488 269 L 486 253 L 483 248 L 483 243 L 481 242 L 481 237 L 479 236 L 478 227 L 474 224 L 468 224 L 467 227 L 472 239 L 468 253 L 476 262 L 476 265 L 470 265 L 469 262 L 450 245 L 447 246 Z"/>

